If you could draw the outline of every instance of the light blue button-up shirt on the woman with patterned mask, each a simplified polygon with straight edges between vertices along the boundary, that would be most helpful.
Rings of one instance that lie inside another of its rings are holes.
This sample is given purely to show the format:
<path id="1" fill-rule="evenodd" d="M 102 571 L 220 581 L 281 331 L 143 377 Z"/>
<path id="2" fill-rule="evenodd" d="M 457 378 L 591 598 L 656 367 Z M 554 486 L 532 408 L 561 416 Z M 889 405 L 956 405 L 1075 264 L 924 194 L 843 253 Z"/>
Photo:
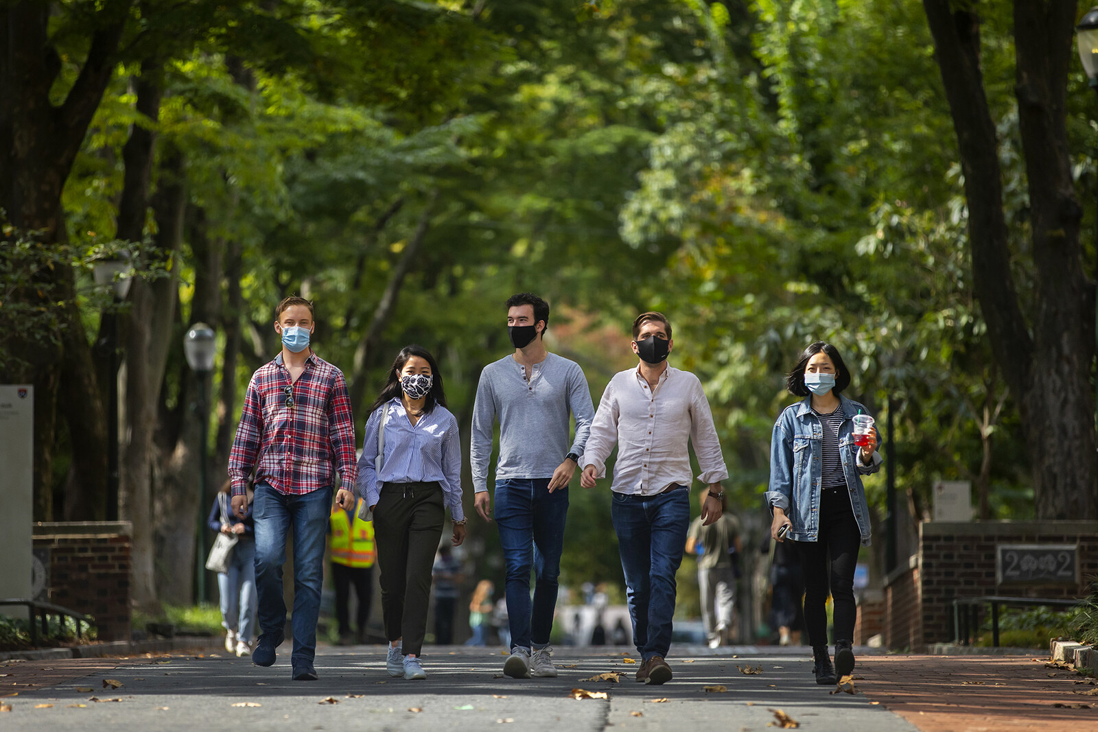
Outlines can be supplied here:
<path id="1" fill-rule="evenodd" d="M 389 413 L 385 423 L 385 452 L 381 470 L 374 468 L 378 459 L 378 421 L 382 410 Z M 366 420 L 366 439 L 362 455 L 358 459 L 358 492 L 368 506 L 378 503 L 381 486 L 385 483 L 429 483 L 437 481 L 442 487 L 446 505 L 455 521 L 464 518 L 461 509 L 461 440 L 458 420 L 449 409 L 436 404 L 435 408 L 412 425 L 400 398 L 374 409 Z"/>

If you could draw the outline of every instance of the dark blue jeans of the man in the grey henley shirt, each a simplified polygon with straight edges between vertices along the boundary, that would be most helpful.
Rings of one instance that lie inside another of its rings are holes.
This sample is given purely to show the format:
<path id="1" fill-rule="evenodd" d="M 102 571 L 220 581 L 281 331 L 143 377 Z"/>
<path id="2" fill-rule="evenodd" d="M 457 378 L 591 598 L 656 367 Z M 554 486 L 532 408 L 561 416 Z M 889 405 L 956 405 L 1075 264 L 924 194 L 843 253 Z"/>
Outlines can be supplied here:
<path id="1" fill-rule="evenodd" d="M 549 645 L 567 516 L 568 486 L 549 493 L 548 477 L 495 482 L 495 522 L 507 571 L 511 647 Z M 531 568 L 536 578 L 533 604 Z"/>

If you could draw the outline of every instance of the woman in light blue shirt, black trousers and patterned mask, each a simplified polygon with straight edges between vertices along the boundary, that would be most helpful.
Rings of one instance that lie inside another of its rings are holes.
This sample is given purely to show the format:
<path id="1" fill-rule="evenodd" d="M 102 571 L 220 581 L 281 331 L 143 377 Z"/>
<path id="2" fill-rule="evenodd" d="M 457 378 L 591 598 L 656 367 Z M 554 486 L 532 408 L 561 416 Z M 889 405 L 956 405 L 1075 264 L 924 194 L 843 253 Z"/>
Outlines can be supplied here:
<path id="1" fill-rule="evenodd" d="M 378 544 L 385 667 L 390 676 L 427 678 L 419 653 L 446 507 L 455 547 L 464 541 L 466 519 L 458 420 L 446 408 L 442 375 L 426 349 L 407 346 L 393 361 L 366 423 L 358 470 Z"/>

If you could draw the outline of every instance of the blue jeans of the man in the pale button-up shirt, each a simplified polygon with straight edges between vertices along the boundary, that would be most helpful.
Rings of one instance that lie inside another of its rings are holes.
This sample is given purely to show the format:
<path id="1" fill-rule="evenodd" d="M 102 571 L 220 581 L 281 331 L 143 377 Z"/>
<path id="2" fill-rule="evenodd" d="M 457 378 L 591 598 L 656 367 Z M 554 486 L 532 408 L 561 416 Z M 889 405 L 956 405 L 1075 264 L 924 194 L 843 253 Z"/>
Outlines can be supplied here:
<path id="1" fill-rule="evenodd" d="M 632 642 L 645 661 L 666 657 L 675 615 L 675 572 L 690 526 L 690 491 L 614 493 L 610 509 L 625 571 Z"/>

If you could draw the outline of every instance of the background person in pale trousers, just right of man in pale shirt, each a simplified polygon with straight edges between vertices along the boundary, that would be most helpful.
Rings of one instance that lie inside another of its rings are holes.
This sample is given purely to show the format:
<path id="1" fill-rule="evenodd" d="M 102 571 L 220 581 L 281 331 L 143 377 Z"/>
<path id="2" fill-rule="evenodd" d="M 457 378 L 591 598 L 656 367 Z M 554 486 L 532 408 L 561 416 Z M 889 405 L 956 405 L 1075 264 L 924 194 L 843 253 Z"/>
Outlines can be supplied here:
<path id="1" fill-rule="evenodd" d="M 705 507 L 708 492 L 703 491 L 698 499 Z M 706 526 L 698 516 L 690 525 L 686 534 L 686 553 L 697 554 L 697 587 L 702 596 L 702 624 L 709 641 L 709 647 L 727 645 L 731 642 L 732 616 L 736 610 L 736 559 L 742 543 L 740 522 L 724 513 L 728 504 L 720 499 L 720 518 Z"/>

